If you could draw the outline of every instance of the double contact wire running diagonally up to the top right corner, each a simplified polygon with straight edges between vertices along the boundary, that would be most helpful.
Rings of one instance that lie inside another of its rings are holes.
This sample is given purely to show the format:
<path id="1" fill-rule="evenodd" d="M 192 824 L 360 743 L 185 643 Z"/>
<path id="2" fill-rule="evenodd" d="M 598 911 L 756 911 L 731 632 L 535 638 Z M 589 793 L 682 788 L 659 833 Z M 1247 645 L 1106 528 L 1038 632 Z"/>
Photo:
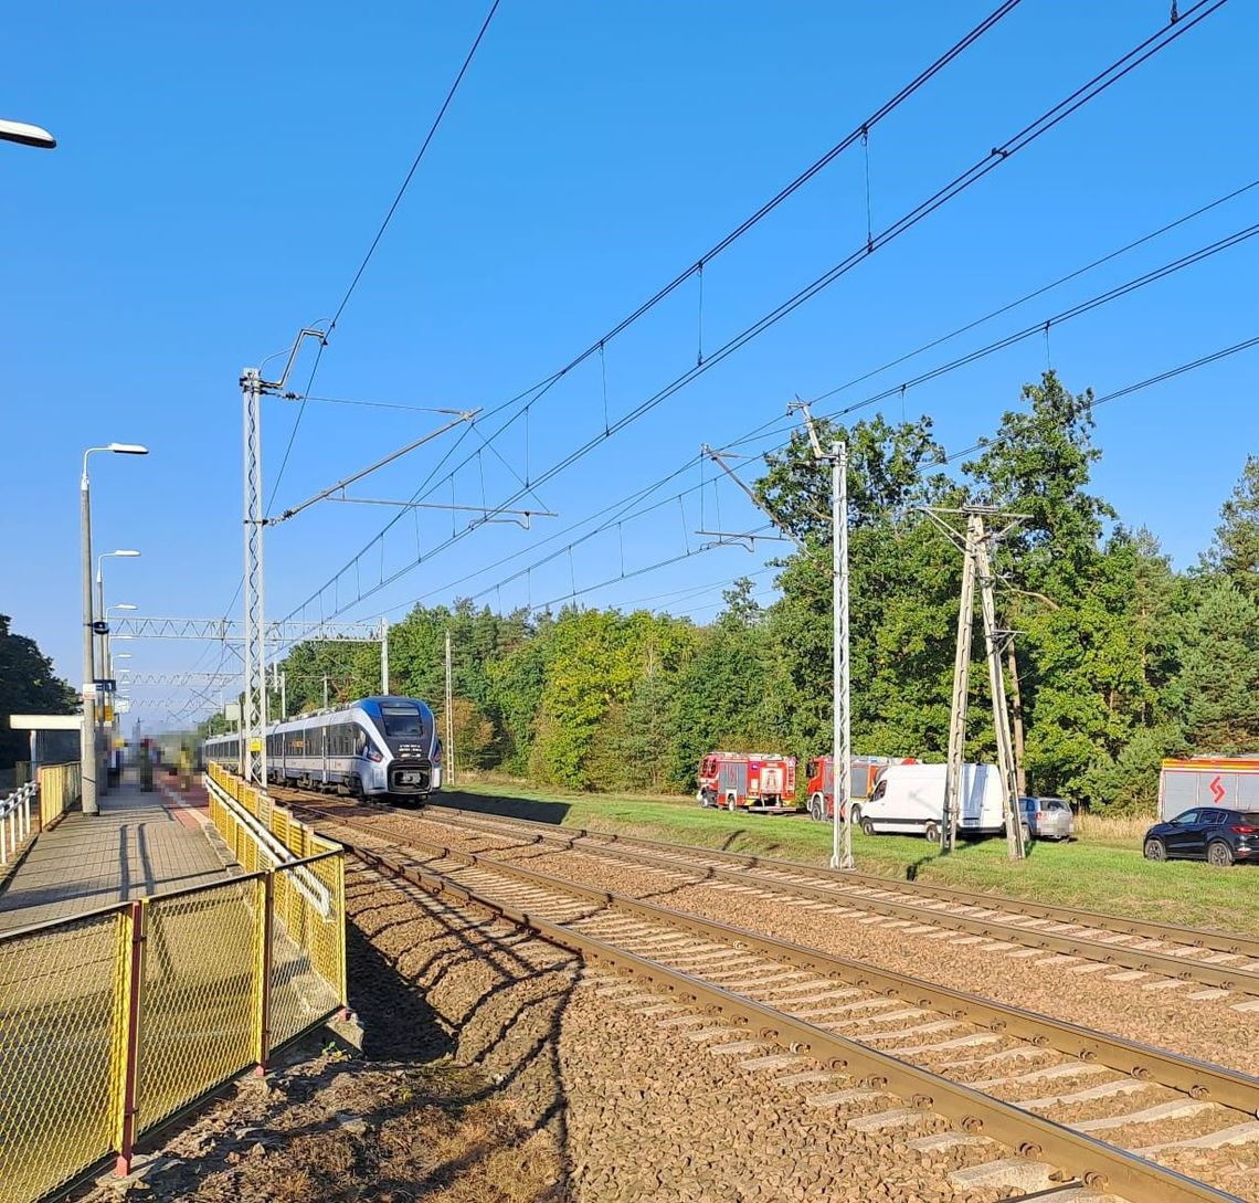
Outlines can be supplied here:
<path id="1" fill-rule="evenodd" d="M 738 335 L 729 339 L 721 348 L 719 348 L 713 354 L 708 355 L 701 364 L 696 364 L 695 367 L 684 372 L 670 384 L 665 385 L 655 394 L 647 397 L 633 409 L 622 414 L 621 418 L 618 418 L 616 422 L 612 423 L 608 435 L 617 433 L 618 431 L 630 426 L 632 422 L 637 421 L 645 413 L 656 408 L 663 401 L 672 397 L 675 393 L 677 393 L 679 391 L 692 383 L 695 379 L 697 379 L 699 375 L 708 372 L 710 368 L 715 367 L 718 363 L 723 362 L 729 355 L 742 349 L 744 345 L 747 345 L 753 339 L 763 334 L 771 326 L 776 325 L 788 314 L 793 312 L 801 305 L 806 304 L 818 292 L 830 287 L 830 285 L 832 285 L 836 280 L 838 280 L 841 276 L 851 271 L 852 267 L 856 266 L 856 263 L 864 262 L 867 258 L 870 258 L 874 251 L 886 246 L 895 238 L 906 233 L 909 229 L 913 229 L 918 223 L 924 220 L 928 215 L 934 213 L 942 205 L 947 204 L 948 202 L 951 202 L 952 199 L 954 199 L 956 197 L 961 195 L 963 191 L 977 184 L 981 179 L 987 176 L 988 173 L 991 173 L 998 165 L 1006 162 L 1015 154 L 1032 145 L 1037 139 L 1042 137 L 1045 134 L 1054 130 L 1066 117 L 1079 111 L 1085 103 L 1097 98 L 1108 88 L 1118 83 L 1121 79 L 1126 78 L 1132 71 L 1134 71 L 1142 63 L 1147 62 L 1160 50 L 1163 50 L 1168 45 L 1173 44 L 1176 40 L 1183 37 L 1190 29 L 1196 28 L 1197 24 L 1200 24 L 1207 16 L 1221 9 L 1226 3 L 1228 0 L 1199 0 L 1197 4 L 1195 4 L 1192 8 L 1187 9 L 1183 14 L 1181 14 L 1180 20 L 1175 25 L 1165 25 L 1160 28 L 1156 33 L 1143 39 L 1127 54 L 1115 59 L 1107 68 L 1094 74 L 1087 83 L 1081 84 L 1064 100 L 1059 101 L 1058 105 L 1053 106 L 1051 108 L 1041 113 L 1039 117 L 1036 117 L 1034 121 L 1025 125 L 1019 132 L 1016 132 L 1012 137 L 1007 139 L 1003 144 L 992 147 L 990 152 L 983 155 L 969 168 L 956 175 L 951 181 L 944 184 L 942 188 L 937 189 L 925 200 L 920 202 L 917 207 L 914 207 L 913 209 L 903 214 L 899 219 L 893 222 L 890 225 L 884 228 L 879 234 L 875 236 L 869 247 L 864 243 L 857 251 L 854 251 L 846 258 L 841 259 L 831 270 L 825 272 L 822 276 L 817 277 L 812 283 L 801 288 L 792 297 L 782 302 L 774 310 L 771 310 L 768 314 L 765 314 L 760 320 L 753 322 L 750 326 L 745 328 Z M 860 131 L 857 131 L 857 134 L 860 134 Z M 598 344 L 596 343 L 592 350 L 597 350 L 597 348 Z M 564 370 L 567 372 L 568 369 Z M 558 377 L 551 378 L 550 383 L 554 383 L 554 379 Z M 546 387 L 549 387 L 549 384 Z M 587 440 L 584 443 L 579 445 L 573 451 L 570 451 L 567 456 L 564 456 L 563 459 L 553 464 L 550 467 L 548 467 L 540 476 L 531 477 L 531 484 L 540 485 L 554 479 L 560 472 L 565 471 L 568 467 L 575 464 L 578 460 L 583 459 L 585 455 L 593 451 L 597 446 L 601 446 L 608 437 L 608 435 L 601 432 L 594 438 Z M 512 494 L 511 496 L 501 501 L 500 506 L 505 509 L 512 505 L 515 501 L 517 501 L 521 496 L 522 496 L 521 493 Z M 485 519 L 480 519 L 477 524 L 480 524 L 480 522 L 483 520 Z M 344 605 L 339 605 L 332 616 L 335 617 L 336 615 L 342 613 L 345 610 L 358 605 L 359 602 L 366 600 L 368 597 L 374 596 L 376 592 L 385 588 L 387 586 L 397 582 L 408 572 L 418 567 L 419 563 L 422 563 L 423 561 L 431 559 L 434 554 L 438 554 L 441 550 L 444 550 L 446 548 L 457 543 L 460 539 L 465 538 L 472 529 L 475 529 L 477 524 L 470 524 L 465 527 L 463 530 L 457 532 L 456 534 L 451 535 L 451 538 L 443 540 L 434 548 L 429 549 L 429 553 L 427 556 L 408 562 L 402 568 L 397 569 L 395 572 L 390 573 L 387 577 L 383 577 L 375 586 L 370 587 L 365 592 L 360 591 L 359 596 L 356 596 L 351 601 L 347 601 Z M 375 540 L 371 540 L 371 543 L 374 542 Z M 370 547 L 371 543 L 369 543 L 368 547 Z M 363 553 L 359 554 L 361 556 Z M 345 571 L 347 571 L 347 568 L 353 566 L 358 561 L 358 558 L 359 557 L 355 557 L 355 559 L 351 561 L 350 564 L 346 566 L 346 568 L 342 568 L 336 574 L 336 577 L 332 578 L 332 581 L 336 581 Z M 300 612 L 302 608 L 305 608 L 305 606 L 317 600 L 324 592 L 324 590 L 326 590 L 332 583 L 332 581 L 327 582 L 325 586 L 322 586 L 310 597 L 307 597 L 307 600 L 302 602 L 300 606 L 297 606 L 291 612 L 291 615 Z"/>

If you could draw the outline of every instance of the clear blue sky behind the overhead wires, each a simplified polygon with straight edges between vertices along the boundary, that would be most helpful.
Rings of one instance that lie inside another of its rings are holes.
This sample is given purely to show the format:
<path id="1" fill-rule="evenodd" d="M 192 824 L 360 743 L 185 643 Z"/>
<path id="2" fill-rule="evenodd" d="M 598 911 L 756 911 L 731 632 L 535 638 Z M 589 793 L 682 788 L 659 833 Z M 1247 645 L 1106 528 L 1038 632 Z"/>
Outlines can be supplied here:
<path id="1" fill-rule="evenodd" d="M 514 397 L 692 265 L 995 6 L 502 0 L 324 353 L 315 393 L 487 409 Z M 107 562 L 107 601 L 156 616 L 224 613 L 240 576 L 240 369 L 332 314 L 486 9 L 63 3 L 6 14 L 0 116 L 49 127 L 59 146 L 0 144 L 0 610 L 68 679 L 79 675 L 83 448 L 120 440 L 152 450 L 145 460 L 93 460 L 96 549 L 144 553 Z M 1024 0 L 871 134 L 875 232 L 1167 16 L 1167 0 Z M 529 532 L 481 527 L 347 605 L 414 559 L 417 545 L 451 535 L 448 514 L 408 516 L 325 595 L 324 611 L 398 617 L 417 597 L 482 590 L 491 605 L 536 605 L 619 576 L 622 564 L 631 573 L 703 543 L 691 494 L 685 509 L 675 501 L 626 522 L 494 588 L 570 538 L 543 543 L 550 533 L 681 466 L 701 442 L 737 438 L 779 417 L 796 394 L 878 368 L 1259 179 L 1256 45 L 1259 13 L 1233 0 L 540 486 L 540 501 L 559 518 L 538 519 Z M 1259 188 L 820 408 L 895 387 L 1255 222 Z M 865 237 L 857 146 L 706 267 L 704 351 Z M 1259 335 L 1256 263 L 1251 239 L 1051 329 L 1047 346 L 1031 339 L 909 389 L 905 413 L 930 414 L 946 447 L 959 448 L 991 432 L 1046 362 L 1068 387 L 1107 393 Z M 691 281 L 607 345 L 611 421 L 694 367 L 699 328 Z M 1098 411 L 1098 491 L 1126 523 L 1149 527 L 1180 566 L 1209 543 L 1220 503 L 1259 445 L 1256 358 L 1259 350 L 1236 355 Z M 311 362 L 307 348 L 296 388 Z M 269 495 L 296 407 L 264 406 Z M 881 408 L 899 418 L 900 397 Z M 439 421 L 311 403 L 277 508 Z M 519 489 L 512 474 L 535 479 L 603 425 L 593 359 L 530 409 L 528 437 L 517 421 L 431 500 L 500 503 Z M 436 479 L 496 426 L 466 436 Z M 434 440 L 358 494 L 409 496 L 454 437 Z M 692 469 L 660 496 L 697 482 Z M 319 590 L 389 513 L 325 503 L 272 530 L 268 617 Z M 760 519 L 726 482 L 705 494 L 703 523 L 718 522 L 744 530 Z M 776 550 L 769 544 L 764 554 Z M 762 566 L 760 549 L 724 548 L 582 600 L 665 603 L 704 620 L 730 578 Z M 772 576 L 757 581 L 768 590 Z M 128 650 L 142 670 L 222 661 L 220 649 L 191 644 Z M 145 695 L 176 710 L 186 697 Z"/>

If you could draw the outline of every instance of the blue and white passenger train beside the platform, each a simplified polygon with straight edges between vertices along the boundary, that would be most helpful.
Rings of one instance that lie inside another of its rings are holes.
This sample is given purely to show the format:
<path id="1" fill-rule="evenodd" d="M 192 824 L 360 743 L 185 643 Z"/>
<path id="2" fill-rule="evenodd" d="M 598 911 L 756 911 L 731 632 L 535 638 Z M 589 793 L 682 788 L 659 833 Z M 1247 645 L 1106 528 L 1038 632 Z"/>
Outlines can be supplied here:
<path id="1" fill-rule="evenodd" d="M 214 736 L 203 756 L 230 768 L 240 737 Z M 442 787 L 442 741 L 418 698 L 361 698 L 267 728 L 267 780 L 354 797 L 423 805 Z"/>

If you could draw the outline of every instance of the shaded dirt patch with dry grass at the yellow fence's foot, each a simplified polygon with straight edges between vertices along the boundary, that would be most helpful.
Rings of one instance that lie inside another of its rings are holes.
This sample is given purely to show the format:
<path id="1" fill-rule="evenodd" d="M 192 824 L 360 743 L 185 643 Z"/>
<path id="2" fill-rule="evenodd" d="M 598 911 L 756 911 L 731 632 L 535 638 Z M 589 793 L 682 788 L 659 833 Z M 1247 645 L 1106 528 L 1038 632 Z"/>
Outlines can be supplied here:
<path id="1" fill-rule="evenodd" d="M 360 903 L 364 899 L 360 894 Z M 553 1131 L 491 1076 L 452 1057 L 447 1025 L 349 930 L 361 1053 L 325 1030 L 160 1134 L 127 1183 L 78 1203 L 559 1203 Z M 155 1146 L 154 1146 L 155 1145 Z"/>

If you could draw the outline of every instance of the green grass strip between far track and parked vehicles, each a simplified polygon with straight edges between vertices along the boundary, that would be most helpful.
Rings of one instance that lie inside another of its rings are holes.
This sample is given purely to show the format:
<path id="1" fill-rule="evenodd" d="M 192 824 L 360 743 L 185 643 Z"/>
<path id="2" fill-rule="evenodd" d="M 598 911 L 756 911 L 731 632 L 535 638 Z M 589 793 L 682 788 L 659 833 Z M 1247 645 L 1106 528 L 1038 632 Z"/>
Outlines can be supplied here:
<path id="1" fill-rule="evenodd" d="M 442 792 L 439 804 L 565 828 L 618 831 L 703 848 L 826 864 L 828 824 L 806 815 L 749 815 L 704 810 L 686 799 L 619 794 L 570 794 L 502 782 L 463 784 Z M 1037 843 L 1022 864 L 1006 858 L 1001 838 L 963 841 L 948 857 L 924 839 L 852 834 L 857 868 L 961 889 L 1087 907 L 1165 923 L 1259 931 L 1259 869 L 1214 869 L 1201 862 L 1152 864 L 1141 855 L 1131 824 L 1107 831 L 1093 823 L 1070 844 Z"/>

